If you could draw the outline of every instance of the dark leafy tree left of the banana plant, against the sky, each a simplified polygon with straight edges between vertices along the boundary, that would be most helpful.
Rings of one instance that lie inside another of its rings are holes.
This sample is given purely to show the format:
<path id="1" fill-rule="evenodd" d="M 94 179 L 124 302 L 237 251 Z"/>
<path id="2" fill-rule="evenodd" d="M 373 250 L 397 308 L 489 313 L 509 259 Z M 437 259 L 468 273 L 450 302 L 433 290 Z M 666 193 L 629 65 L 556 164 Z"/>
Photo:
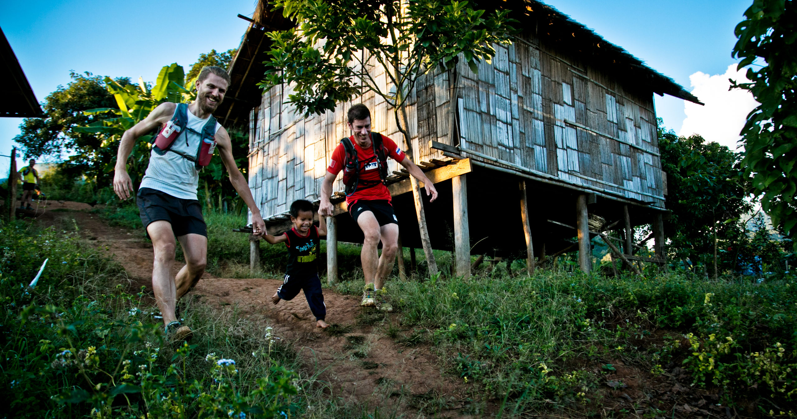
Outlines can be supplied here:
<path id="1" fill-rule="evenodd" d="M 26 158 L 58 159 L 65 152 L 74 154 L 65 165 L 69 174 L 85 174 L 102 182 L 107 180 L 104 162 L 110 159 L 112 152 L 100 147 L 102 140 L 95 133 L 78 132 L 73 128 L 96 122 L 96 115 L 85 115 L 83 111 L 113 106 L 113 96 L 105 89 L 101 76 L 91 72 L 71 72 L 69 76 L 72 81 L 66 87 L 58 86 L 45 98 L 42 108 L 46 117 L 23 119 L 22 132 L 14 141 L 21 146 Z M 125 86 L 130 84 L 130 79 L 122 77 L 114 83 Z"/>

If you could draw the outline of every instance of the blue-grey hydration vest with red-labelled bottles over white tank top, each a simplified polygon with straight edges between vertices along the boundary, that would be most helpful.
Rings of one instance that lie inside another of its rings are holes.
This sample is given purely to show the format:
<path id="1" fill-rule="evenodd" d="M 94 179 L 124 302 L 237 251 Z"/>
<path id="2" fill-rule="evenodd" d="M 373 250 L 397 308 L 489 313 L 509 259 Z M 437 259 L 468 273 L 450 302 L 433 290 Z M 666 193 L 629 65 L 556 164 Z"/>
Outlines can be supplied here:
<path id="1" fill-rule="evenodd" d="M 152 150 L 158 155 L 165 155 L 167 151 L 182 155 L 183 158 L 190 160 L 196 164 L 197 170 L 210 164 L 210 159 L 213 158 L 213 152 L 216 149 L 216 119 L 214 116 L 210 118 L 202 127 L 202 131 L 194 131 L 188 124 L 188 105 L 177 104 L 175 115 L 171 117 L 167 123 L 164 123 L 155 135 L 152 141 L 155 145 Z M 188 133 L 199 135 L 199 145 L 197 147 L 196 155 L 188 155 L 182 151 L 172 150 L 171 144 L 175 142 L 183 131 L 186 131 L 186 146 L 188 145 Z"/>

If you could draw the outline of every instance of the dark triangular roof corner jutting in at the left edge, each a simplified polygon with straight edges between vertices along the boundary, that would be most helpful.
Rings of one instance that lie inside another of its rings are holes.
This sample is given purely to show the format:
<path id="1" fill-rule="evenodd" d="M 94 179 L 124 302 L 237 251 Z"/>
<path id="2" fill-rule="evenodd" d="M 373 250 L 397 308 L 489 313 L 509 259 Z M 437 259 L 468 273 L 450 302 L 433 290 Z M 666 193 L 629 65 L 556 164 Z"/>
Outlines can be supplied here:
<path id="1" fill-rule="evenodd" d="M 36 95 L 30 88 L 28 78 L 17 61 L 17 56 L 0 29 L 0 80 L 7 80 L 6 100 L 0 103 L 0 116 L 17 118 L 40 118 L 41 112 Z"/>

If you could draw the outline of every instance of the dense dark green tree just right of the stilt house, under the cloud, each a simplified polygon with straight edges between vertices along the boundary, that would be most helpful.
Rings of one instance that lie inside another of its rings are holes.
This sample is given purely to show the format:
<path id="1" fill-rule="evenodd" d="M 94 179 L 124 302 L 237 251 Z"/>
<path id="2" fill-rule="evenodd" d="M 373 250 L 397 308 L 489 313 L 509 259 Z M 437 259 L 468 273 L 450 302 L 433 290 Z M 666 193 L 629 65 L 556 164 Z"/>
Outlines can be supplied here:
<path id="1" fill-rule="evenodd" d="M 713 264 L 715 235 L 722 243 L 720 268 L 735 268 L 736 254 L 728 247 L 744 241 L 738 222 L 752 206 L 744 198 L 749 184 L 741 176 L 741 155 L 718 143 L 705 143 L 700 135 L 679 137 L 658 119 L 658 147 L 662 170 L 667 172 L 667 207 L 672 219 L 665 234 L 672 240 L 671 256 L 693 263 Z"/>

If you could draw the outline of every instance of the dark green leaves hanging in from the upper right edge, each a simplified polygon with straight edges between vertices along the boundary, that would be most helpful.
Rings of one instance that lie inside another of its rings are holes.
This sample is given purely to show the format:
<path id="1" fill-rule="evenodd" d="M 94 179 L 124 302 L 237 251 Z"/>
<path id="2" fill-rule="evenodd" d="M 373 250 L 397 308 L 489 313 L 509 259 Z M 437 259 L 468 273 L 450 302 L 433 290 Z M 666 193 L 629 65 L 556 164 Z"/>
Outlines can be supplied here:
<path id="1" fill-rule="evenodd" d="M 754 0 L 736 25 L 733 57 L 748 67 L 750 83 L 733 87 L 752 93 L 760 106 L 742 130 L 746 174 L 775 225 L 797 225 L 797 4 L 794 0 Z"/>

